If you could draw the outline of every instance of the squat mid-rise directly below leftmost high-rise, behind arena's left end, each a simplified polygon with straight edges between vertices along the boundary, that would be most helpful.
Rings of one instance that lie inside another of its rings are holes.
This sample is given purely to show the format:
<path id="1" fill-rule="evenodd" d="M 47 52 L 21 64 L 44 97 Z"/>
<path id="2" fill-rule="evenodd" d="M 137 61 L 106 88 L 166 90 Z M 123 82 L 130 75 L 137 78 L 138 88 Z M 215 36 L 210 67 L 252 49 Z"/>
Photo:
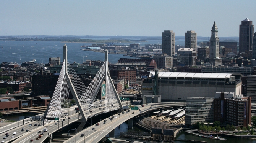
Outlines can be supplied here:
<path id="1" fill-rule="evenodd" d="M 154 57 L 154 60 L 156 61 L 157 68 L 172 68 L 172 56 L 162 53 Z"/>

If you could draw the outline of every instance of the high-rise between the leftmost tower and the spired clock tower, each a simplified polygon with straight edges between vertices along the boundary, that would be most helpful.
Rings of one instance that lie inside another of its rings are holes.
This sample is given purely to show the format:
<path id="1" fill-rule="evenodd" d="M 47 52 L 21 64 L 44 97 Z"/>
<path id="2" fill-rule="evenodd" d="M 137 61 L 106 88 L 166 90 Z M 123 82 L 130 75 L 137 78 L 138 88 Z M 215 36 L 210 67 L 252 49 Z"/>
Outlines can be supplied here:
<path id="1" fill-rule="evenodd" d="M 194 31 L 185 33 L 185 48 L 192 48 L 196 51 L 196 33 Z"/>

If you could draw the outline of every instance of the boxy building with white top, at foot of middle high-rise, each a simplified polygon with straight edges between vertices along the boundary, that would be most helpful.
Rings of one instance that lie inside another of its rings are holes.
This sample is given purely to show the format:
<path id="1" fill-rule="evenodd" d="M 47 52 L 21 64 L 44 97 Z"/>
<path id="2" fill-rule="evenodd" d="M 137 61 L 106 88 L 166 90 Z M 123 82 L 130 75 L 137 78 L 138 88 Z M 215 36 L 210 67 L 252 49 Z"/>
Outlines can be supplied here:
<path id="1" fill-rule="evenodd" d="M 177 51 L 177 58 L 180 63 L 193 67 L 196 65 L 196 51 L 192 48 L 181 48 Z"/>

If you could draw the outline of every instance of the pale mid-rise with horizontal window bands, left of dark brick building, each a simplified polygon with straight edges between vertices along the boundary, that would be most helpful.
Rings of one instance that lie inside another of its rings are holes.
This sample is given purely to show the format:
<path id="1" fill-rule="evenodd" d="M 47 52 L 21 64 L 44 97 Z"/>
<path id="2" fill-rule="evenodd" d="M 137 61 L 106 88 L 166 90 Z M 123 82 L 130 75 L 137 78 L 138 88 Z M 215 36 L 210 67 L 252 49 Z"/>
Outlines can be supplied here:
<path id="1" fill-rule="evenodd" d="M 185 124 L 192 125 L 196 122 L 213 122 L 214 97 L 188 97 L 186 98 Z"/>

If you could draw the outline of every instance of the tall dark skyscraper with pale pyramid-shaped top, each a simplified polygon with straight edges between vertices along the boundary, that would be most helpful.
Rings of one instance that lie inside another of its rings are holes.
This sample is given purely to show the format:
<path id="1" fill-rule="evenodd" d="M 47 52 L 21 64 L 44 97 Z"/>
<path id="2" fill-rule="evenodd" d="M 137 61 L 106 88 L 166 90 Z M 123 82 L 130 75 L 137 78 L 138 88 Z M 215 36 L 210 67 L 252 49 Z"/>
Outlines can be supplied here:
<path id="1" fill-rule="evenodd" d="M 253 22 L 248 18 L 239 26 L 239 53 L 249 52 L 253 48 Z"/>

